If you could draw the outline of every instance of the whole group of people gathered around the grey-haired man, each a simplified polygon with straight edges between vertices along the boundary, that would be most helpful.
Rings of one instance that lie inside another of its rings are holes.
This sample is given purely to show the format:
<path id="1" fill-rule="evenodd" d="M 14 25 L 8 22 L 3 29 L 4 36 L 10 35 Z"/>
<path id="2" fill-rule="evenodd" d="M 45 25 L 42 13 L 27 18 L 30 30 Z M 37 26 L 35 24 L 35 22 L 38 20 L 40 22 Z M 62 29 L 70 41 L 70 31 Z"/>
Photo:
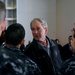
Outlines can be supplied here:
<path id="1" fill-rule="evenodd" d="M 0 75 L 75 75 L 75 26 L 68 43 L 49 39 L 42 18 L 30 22 L 33 40 L 25 46 L 25 29 L 13 23 L 6 29 L 5 4 L 0 1 Z"/>

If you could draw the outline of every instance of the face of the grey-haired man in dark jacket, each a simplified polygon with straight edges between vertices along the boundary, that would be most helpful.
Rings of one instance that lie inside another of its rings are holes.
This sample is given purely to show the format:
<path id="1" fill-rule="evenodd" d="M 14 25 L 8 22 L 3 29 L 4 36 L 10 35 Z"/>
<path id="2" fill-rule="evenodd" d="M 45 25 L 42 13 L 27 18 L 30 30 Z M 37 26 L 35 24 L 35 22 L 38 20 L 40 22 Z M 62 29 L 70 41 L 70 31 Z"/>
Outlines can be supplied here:
<path id="1" fill-rule="evenodd" d="M 32 35 L 38 41 L 44 41 L 46 39 L 46 34 L 48 32 L 48 28 L 43 28 L 42 23 L 36 21 L 32 23 Z"/>

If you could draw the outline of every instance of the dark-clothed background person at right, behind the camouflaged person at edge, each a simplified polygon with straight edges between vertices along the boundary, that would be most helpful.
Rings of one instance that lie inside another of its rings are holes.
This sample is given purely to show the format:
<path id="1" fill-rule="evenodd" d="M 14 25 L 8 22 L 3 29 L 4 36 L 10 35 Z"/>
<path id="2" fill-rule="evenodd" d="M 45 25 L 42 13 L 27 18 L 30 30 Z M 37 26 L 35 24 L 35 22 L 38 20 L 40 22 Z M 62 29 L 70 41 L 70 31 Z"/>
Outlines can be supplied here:
<path id="1" fill-rule="evenodd" d="M 72 47 L 71 47 L 71 40 L 72 40 L 72 35 L 70 35 L 68 37 L 68 43 L 65 44 L 63 46 L 63 48 L 62 48 L 62 51 L 63 51 L 62 52 L 62 54 L 63 54 L 62 55 L 63 61 L 65 61 L 65 60 L 67 60 L 67 59 L 69 59 L 69 58 L 74 56 L 73 51 L 72 51 Z"/>

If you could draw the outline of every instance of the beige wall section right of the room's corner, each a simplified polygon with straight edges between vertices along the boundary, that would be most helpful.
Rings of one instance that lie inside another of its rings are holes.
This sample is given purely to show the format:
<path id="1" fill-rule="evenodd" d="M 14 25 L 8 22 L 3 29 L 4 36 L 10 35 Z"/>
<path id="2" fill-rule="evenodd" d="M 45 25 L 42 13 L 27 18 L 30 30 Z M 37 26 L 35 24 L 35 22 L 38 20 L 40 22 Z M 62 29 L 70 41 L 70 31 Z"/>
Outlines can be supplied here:
<path id="1" fill-rule="evenodd" d="M 75 22 L 75 0 L 56 0 L 56 3 L 56 37 L 64 45 Z"/>

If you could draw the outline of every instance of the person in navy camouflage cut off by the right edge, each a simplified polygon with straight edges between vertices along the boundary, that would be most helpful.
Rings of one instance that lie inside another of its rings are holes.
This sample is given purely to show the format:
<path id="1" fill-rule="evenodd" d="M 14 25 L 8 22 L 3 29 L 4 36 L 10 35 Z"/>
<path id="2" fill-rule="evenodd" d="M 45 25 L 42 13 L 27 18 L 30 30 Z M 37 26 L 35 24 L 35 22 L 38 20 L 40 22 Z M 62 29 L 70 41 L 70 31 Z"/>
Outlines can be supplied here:
<path id="1" fill-rule="evenodd" d="M 75 54 L 75 29 L 72 30 L 71 47 Z M 75 75 L 75 56 L 63 63 L 60 69 L 60 75 Z"/>

